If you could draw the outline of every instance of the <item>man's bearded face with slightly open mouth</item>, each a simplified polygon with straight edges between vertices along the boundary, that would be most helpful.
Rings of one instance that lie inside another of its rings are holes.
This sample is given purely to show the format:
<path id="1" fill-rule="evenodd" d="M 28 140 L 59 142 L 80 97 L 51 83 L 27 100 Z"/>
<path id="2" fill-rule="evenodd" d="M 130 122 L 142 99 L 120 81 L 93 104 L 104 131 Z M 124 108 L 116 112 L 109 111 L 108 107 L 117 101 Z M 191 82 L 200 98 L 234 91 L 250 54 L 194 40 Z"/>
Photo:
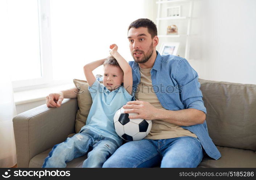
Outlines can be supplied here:
<path id="1" fill-rule="evenodd" d="M 131 28 L 128 31 L 129 48 L 137 63 L 145 63 L 154 51 L 153 39 L 147 27 Z"/>

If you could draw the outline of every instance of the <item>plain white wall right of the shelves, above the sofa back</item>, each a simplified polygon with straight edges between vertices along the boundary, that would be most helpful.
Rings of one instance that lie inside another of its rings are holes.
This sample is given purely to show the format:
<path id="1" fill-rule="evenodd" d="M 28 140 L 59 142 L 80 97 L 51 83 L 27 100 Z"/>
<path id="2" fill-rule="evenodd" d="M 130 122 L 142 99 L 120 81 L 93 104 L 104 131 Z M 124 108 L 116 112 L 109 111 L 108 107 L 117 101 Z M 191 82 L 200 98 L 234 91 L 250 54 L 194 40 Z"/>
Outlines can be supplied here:
<path id="1" fill-rule="evenodd" d="M 199 78 L 256 84 L 256 1 L 202 0 L 194 8 L 201 23 L 190 64 Z"/>

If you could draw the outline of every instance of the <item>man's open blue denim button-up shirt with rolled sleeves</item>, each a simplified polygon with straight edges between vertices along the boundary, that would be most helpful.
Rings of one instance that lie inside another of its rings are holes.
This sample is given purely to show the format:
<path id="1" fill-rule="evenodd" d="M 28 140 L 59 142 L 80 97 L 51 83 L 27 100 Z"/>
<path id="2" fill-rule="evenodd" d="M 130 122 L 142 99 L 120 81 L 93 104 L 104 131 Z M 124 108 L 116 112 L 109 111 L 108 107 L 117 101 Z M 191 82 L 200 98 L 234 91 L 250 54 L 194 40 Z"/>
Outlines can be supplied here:
<path id="1" fill-rule="evenodd" d="M 133 92 L 136 93 L 140 82 L 139 64 L 129 61 L 129 65 L 132 67 Z M 206 113 L 203 95 L 199 89 L 198 74 L 186 59 L 173 55 L 161 56 L 157 52 L 150 74 L 153 90 L 162 107 L 167 110 L 194 108 Z M 208 135 L 206 121 L 203 124 L 181 127 L 197 135 L 203 149 L 211 158 L 221 157 L 219 150 Z"/>

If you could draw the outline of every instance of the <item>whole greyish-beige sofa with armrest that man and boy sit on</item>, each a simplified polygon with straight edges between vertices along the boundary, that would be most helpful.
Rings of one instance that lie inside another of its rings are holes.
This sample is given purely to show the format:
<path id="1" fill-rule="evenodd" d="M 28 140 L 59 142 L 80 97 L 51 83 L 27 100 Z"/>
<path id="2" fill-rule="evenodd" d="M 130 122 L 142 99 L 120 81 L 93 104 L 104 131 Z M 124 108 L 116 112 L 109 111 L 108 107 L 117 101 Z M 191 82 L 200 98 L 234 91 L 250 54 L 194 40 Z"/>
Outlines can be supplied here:
<path id="1" fill-rule="evenodd" d="M 207 155 L 198 167 L 256 167 L 256 85 L 199 79 L 209 135 L 222 157 Z M 86 95 L 90 98 L 90 95 Z M 41 167 L 51 148 L 75 133 L 78 100 L 46 105 L 13 118 L 18 167 Z M 86 155 L 67 163 L 81 167 Z"/>

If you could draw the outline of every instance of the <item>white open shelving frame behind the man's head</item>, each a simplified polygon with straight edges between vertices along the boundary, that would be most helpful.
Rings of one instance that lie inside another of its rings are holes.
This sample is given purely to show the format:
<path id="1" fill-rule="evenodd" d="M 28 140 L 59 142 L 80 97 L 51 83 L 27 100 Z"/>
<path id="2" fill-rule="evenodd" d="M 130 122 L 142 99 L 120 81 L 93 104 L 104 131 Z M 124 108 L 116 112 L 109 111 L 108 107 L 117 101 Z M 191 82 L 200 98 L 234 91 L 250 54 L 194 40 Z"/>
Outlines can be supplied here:
<path id="1" fill-rule="evenodd" d="M 177 20 L 177 19 L 180 19 L 181 21 L 187 21 L 187 32 L 186 32 L 186 34 L 178 34 L 178 35 L 160 34 L 160 35 L 158 35 L 158 37 L 159 38 L 181 38 L 183 36 L 186 36 L 185 58 L 187 60 L 190 60 L 189 59 L 190 35 L 191 35 L 190 34 L 190 28 L 191 28 L 191 14 L 192 14 L 192 11 L 193 11 L 193 0 L 158 0 L 156 3 L 158 4 L 157 18 L 156 18 L 158 32 L 161 32 L 161 28 L 163 28 L 163 27 L 160 26 L 160 22 L 162 22 L 162 21 Z M 160 13 L 161 13 L 161 10 L 162 10 L 162 5 L 167 4 L 167 3 L 168 3 L 168 5 L 169 4 L 174 4 L 174 3 L 176 3 L 176 4 L 177 3 L 189 3 L 188 16 L 161 17 Z"/>

